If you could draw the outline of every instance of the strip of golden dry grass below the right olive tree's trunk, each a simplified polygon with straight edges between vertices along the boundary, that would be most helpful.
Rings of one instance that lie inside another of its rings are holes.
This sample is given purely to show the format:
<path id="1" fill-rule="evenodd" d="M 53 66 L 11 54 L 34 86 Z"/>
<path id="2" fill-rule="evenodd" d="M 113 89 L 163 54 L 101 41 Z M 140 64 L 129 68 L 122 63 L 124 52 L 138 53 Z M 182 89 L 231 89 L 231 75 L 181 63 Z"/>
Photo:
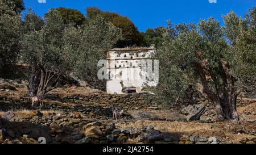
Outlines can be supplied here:
<path id="1" fill-rule="evenodd" d="M 167 121 L 150 121 L 138 120 L 133 123 L 115 123 L 117 128 L 142 128 L 144 125 L 153 125 L 153 127 L 161 132 L 179 133 L 180 135 L 199 135 L 200 137 L 218 137 L 221 141 L 232 141 L 239 144 L 243 137 L 253 137 L 244 133 L 233 133 L 237 129 L 243 129 L 245 123 L 242 125 L 235 125 L 232 122 L 216 122 L 216 123 L 198 123 L 198 122 L 167 122 Z M 248 124 L 247 124 L 248 125 Z M 230 126 L 231 128 L 228 128 Z M 247 129 L 255 131 L 255 124 L 250 124 Z M 130 140 L 134 143 L 134 140 Z"/>

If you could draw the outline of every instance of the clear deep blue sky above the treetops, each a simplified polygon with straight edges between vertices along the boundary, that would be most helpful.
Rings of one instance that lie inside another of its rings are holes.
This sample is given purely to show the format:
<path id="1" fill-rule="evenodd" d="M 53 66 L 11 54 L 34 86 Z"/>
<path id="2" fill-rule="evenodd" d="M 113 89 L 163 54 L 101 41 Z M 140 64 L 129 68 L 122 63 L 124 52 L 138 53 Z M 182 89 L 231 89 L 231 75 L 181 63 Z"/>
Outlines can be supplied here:
<path id="1" fill-rule="evenodd" d="M 239 16 L 247 9 L 256 6 L 256 0 L 23 0 L 26 8 L 31 7 L 36 14 L 43 16 L 48 9 L 67 7 L 86 14 L 86 7 L 96 6 L 101 10 L 118 12 L 127 16 L 138 27 L 139 31 L 147 28 L 166 26 L 166 20 L 172 23 L 199 22 L 213 16 L 222 22 L 221 15 L 230 10 Z M 46 1 L 46 3 L 39 3 Z M 217 1 L 217 3 L 209 3 Z"/>

